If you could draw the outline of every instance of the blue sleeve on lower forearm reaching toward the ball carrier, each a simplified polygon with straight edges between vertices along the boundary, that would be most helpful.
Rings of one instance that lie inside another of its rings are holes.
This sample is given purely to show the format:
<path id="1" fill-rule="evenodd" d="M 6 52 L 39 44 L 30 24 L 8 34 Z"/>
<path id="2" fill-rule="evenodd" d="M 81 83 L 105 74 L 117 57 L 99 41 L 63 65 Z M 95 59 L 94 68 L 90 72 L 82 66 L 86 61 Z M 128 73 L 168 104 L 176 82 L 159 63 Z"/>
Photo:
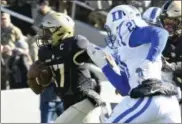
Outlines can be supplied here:
<path id="1" fill-rule="evenodd" d="M 130 91 L 130 85 L 124 72 L 121 72 L 121 74 L 118 75 L 116 72 L 114 72 L 110 65 L 104 66 L 102 71 L 122 96 L 128 95 Z"/>

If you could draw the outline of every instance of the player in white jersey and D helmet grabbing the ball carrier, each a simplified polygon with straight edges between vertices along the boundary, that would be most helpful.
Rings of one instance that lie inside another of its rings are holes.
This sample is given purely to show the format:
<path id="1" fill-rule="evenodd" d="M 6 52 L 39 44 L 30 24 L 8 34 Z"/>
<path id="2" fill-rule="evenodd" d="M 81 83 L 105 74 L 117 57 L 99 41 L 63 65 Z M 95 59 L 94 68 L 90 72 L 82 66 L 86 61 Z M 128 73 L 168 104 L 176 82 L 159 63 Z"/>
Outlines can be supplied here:
<path id="1" fill-rule="evenodd" d="M 168 32 L 148 25 L 130 5 L 114 7 L 107 15 L 105 27 L 109 47 L 117 51 L 115 59 L 120 68 L 102 49 L 90 45 L 87 52 L 117 91 L 125 96 L 106 122 L 180 123 L 176 87 L 161 82 L 161 53 Z"/>

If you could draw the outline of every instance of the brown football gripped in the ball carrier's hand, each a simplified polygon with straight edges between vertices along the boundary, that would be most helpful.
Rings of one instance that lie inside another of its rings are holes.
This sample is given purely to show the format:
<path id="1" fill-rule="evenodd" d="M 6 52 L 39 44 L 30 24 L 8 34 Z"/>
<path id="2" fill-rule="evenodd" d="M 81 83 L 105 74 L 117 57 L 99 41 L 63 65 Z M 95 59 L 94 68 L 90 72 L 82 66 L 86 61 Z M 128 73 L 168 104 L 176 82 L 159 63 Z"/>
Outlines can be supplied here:
<path id="1" fill-rule="evenodd" d="M 51 83 L 52 72 L 42 62 L 35 61 L 28 71 L 27 78 L 28 85 L 33 92 L 40 94 Z"/>

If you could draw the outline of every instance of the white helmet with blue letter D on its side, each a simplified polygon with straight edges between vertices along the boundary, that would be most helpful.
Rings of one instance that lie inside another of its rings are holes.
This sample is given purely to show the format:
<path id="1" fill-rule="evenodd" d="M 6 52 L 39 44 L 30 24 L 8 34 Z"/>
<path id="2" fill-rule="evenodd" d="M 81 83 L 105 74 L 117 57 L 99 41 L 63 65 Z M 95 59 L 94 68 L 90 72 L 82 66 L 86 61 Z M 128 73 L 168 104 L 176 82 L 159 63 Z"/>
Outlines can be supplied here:
<path id="1" fill-rule="evenodd" d="M 141 13 L 131 5 L 119 5 L 109 11 L 105 23 L 105 29 L 108 34 L 106 42 L 109 47 L 114 48 L 118 26 L 124 21 L 132 20 L 136 17 L 141 17 Z"/>

